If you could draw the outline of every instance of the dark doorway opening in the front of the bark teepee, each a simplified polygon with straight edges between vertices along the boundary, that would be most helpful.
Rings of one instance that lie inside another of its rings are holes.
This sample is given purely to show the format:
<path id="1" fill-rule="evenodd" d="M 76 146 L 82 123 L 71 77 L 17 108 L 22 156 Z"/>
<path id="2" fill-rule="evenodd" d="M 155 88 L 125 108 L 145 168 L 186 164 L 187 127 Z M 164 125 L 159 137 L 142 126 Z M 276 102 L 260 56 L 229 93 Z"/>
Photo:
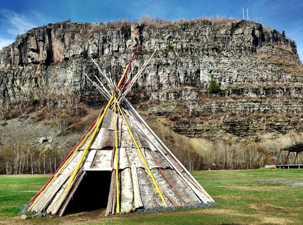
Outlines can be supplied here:
<path id="1" fill-rule="evenodd" d="M 111 171 L 86 171 L 65 215 L 106 208 L 111 175 Z"/>

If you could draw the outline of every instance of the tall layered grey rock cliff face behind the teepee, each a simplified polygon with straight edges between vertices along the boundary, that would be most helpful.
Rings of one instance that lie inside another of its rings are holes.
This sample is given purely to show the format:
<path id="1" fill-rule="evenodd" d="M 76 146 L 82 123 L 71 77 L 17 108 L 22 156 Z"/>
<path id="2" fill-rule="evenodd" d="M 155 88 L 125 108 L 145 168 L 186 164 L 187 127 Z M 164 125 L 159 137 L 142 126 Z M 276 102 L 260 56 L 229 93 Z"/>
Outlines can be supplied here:
<path id="1" fill-rule="evenodd" d="M 102 98 L 84 76 L 100 77 L 90 57 L 99 57 L 117 80 L 135 48 L 134 72 L 156 45 L 159 51 L 130 97 L 176 132 L 214 139 L 303 130 L 303 67 L 296 43 L 244 20 L 34 28 L 0 51 L 0 101 L 17 104 L 68 90 L 99 105 Z M 211 79 L 221 86 L 217 95 L 207 94 Z"/>

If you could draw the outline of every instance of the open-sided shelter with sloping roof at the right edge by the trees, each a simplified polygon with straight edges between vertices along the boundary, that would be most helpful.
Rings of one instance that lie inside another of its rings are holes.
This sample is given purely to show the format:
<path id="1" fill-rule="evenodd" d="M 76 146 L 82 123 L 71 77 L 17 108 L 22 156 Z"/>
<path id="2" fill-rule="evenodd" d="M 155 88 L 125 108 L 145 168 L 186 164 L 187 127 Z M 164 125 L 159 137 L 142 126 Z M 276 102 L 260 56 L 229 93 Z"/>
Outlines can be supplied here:
<path id="1" fill-rule="evenodd" d="M 286 151 L 287 152 L 287 156 L 286 156 L 286 159 L 284 160 L 283 164 L 279 164 L 279 159 L 281 157 L 281 153 L 283 151 Z M 296 144 L 293 144 L 293 145 L 290 145 L 290 146 L 287 146 L 285 148 L 282 148 L 279 152 L 279 155 L 278 155 L 278 159 L 277 159 L 277 162 L 276 162 L 276 168 L 279 168 L 279 169 L 303 169 L 303 165 L 301 164 L 297 164 L 297 160 L 298 160 L 298 157 L 299 157 L 299 154 L 303 152 L 303 142 L 298 142 Z M 289 162 L 290 161 L 290 155 L 291 154 L 295 154 L 294 155 L 294 161 L 293 162 Z"/>

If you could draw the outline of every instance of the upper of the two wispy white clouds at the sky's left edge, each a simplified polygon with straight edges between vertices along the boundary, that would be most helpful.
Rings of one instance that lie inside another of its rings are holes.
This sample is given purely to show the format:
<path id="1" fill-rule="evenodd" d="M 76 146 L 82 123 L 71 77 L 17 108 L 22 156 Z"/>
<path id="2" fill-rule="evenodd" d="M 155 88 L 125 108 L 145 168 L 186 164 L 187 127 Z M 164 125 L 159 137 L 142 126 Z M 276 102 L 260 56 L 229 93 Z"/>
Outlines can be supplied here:
<path id="1" fill-rule="evenodd" d="M 33 22 L 28 19 L 28 16 L 24 14 L 16 13 L 7 9 L 0 9 L 2 29 L 7 33 L 16 36 L 17 34 L 23 34 L 26 31 L 37 27 Z"/>

